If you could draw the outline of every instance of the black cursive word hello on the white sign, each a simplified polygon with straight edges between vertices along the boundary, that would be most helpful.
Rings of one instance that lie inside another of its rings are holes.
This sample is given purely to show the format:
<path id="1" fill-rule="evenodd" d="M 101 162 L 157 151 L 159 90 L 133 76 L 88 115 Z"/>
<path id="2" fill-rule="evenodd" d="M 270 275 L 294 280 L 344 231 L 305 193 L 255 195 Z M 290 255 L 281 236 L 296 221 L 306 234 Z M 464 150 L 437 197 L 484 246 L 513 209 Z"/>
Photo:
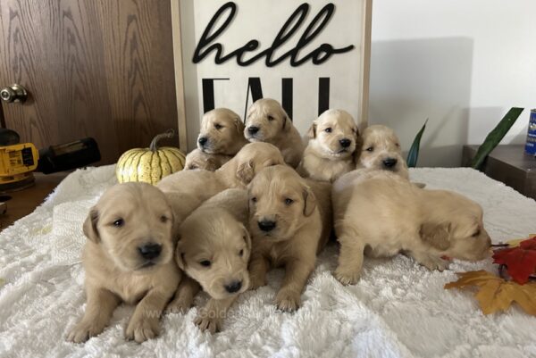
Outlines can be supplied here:
<path id="1" fill-rule="evenodd" d="M 267 67 L 273 67 L 278 63 L 285 61 L 287 58 L 290 59 L 290 65 L 297 67 L 300 64 L 303 64 L 311 60 L 315 65 L 326 62 L 330 59 L 333 54 L 344 54 L 348 51 L 351 51 L 355 48 L 354 45 L 335 48 L 330 44 L 322 44 L 318 46 L 309 54 L 303 55 L 300 57 L 300 51 L 306 47 L 311 41 L 317 37 L 322 30 L 326 27 L 328 22 L 335 12 L 334 4 L 325 5 L 320 12 L 314 16 L 313 21 L 309 23 L 301 37 L 297 41 L 297 45 L 289 50 L 285 54 L 281 54 L 278 58 L 273 58 L 276 50 L 281 47 L 289 38 L 293 37 L 297 29 L 301 26 L 302 22 L 306 20 L 307 12 L 309 11 L 309 4 L 301 4 L 297 7 L 295 12 L 292 12 L 289 19 L 283 24 L 282 28 L 278 32 L 277 36 L 273 39 L 272 46 L 266 48 L 265 50 L 259 52 L 258 54 L 253 55 L 249 59 L 245 59 L 247 53 L 254 52 L 259 47 L 259 41 L 256 39 L 249 40 L 246 45 L 239 47 L 238 49 L 231 51 L 229 54 L 223 54 L 223 46 L 218 42 L 214 42 L 217 37 L 219 37 L 222 32 L 227 29 L 230 25 L 230 22 L 234 19 L 237 12 L 237 4 L 235 3 L 226 3 L 223 4 L 220 9 L 214 14 L 211 21 L 208 22 L 208 25 L 203 31 L 203 35 L 199 39 L 199 42 L 196 46 L 196 51 L 194 52 L 194 57 L 192 61 L 194 63 L 201 62 L 205 57 L 212 52 L 215 52 L 214 62 L 216 64 L 221 64 L 223 62 L 229 61 L 231 58 L 236 57 L 237 63 L 240 66 L 248 66 L 261 58 L 265 57 L 264 62 Z M 214 24 L 222 17 L 223 13 L 227 10 L 230 12 L 227 15 L 225 21 L 222 25 L 214 29 Z"/>

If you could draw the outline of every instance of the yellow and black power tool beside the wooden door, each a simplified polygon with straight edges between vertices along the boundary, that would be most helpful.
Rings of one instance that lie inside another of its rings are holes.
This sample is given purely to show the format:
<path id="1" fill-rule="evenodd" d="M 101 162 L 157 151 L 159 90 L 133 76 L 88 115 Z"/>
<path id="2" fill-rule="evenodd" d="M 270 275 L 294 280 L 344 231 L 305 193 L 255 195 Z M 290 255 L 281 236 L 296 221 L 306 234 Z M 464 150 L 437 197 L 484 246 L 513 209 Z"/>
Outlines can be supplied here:
<path id="1" fill-rule="evenodd" d="M 84 167 L 101 159 L 92 137 L 38 151 L 31 143 L 20 143 L 12 129 L 0 129 L 0 192 L 31 187 L 33 171 L 45 174 Z"/>

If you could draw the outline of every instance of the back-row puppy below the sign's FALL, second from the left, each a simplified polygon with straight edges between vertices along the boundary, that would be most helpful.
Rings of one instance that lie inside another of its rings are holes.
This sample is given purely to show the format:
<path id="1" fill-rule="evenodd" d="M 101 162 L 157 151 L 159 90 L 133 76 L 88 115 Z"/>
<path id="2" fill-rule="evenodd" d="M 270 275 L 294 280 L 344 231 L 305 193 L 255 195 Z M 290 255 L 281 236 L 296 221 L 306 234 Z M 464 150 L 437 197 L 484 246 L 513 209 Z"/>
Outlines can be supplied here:
<path id="1" fill-rule="evenodd" d="M 270 98 L 256 100 L 247 110 L 245 122 L 244 136 L 247 140 L 277 146 L 285 162 L 297 167 L 304 153 L 304 144 L 279 102 Z"/>

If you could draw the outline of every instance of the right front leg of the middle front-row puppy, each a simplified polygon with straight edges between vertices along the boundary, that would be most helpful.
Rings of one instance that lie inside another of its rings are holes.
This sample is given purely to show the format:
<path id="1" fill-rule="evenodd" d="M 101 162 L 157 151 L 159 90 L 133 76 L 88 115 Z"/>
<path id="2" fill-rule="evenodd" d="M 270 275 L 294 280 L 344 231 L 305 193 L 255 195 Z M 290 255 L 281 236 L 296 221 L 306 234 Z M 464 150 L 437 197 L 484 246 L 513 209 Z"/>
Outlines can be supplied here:
<path id="1" fill-rule="evenodd" d="M 275 304 L 281 311 L 296 311 L 300 304 L 301 293 L 306 286 L 314 265 L 304 260 L 296 259 L 285 265 L 285 278 L 275 296 Z M 314 262 L 314 259 L 313 261 Z"/>

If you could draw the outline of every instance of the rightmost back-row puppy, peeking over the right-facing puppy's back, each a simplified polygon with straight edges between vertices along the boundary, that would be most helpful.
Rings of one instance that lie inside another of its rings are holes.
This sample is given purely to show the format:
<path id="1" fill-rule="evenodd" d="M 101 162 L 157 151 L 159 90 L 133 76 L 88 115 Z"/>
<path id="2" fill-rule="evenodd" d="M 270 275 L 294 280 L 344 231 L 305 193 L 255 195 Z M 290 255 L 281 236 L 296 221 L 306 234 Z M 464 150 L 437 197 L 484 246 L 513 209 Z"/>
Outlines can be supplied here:
<path id="1" fill-rule="evenodd" d="M 356 150 L 356 168 L 393 171 L 409 178 L 406 161 L 402 157 L 400 141 L 389 127 L 373 125 L 364 129 L 363 145 Z"/>

